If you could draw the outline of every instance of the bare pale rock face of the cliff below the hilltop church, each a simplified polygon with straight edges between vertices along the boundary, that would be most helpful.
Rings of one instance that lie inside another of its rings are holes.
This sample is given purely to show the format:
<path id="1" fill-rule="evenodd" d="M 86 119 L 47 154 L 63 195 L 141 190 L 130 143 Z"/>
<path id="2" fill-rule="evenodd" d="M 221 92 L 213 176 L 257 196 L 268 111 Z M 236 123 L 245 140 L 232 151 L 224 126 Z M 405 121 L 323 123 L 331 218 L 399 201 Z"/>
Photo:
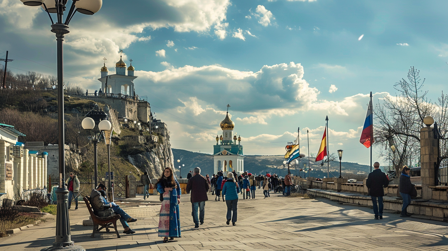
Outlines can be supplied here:
<path id="1" fill-rule="evenodd" d="M 148 171 L 150 178 L 159 178 L 166 167 L 171 167 L 174 170 L 174 160 L 169 143 L 168 133 L 159 139 L 153 147 L 148 147 L 148 151 L 136 155 L 129 155 L 128 160 L 138 169 L 144 172 Z M 139 137 L 140 143 L 146 144 L 148 142 L 141 142 L 144 137 Z M 150 140 L 149 137 L 147 137 Z"/>

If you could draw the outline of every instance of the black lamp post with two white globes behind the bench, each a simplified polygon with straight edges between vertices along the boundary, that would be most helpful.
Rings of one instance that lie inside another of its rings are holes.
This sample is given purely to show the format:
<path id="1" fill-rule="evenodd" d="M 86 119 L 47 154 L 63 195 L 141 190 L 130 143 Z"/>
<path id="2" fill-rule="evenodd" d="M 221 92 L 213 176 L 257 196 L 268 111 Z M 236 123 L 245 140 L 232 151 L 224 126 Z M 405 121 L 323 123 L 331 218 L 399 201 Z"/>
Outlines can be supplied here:
<path id="1" fill-rule="evenodd" d="M 86 117 L 82 120 L 81 123 L 82 128 L 89 131 L 90 138 L 92 139 L 93 142 L 93 155 L 94 155 L 93 165 L 95 173 L 94 186 L 98 185 L 98 160 L 97 160 L 98 142 L 101 140 L 103 133 L 105 131 L 111 130 L 112 128 L 111 122 L 106 120 L 107 117 L 108 115 L 104 113 L 103 110 L 99 108 L 97 104 L 95 104 L 95 108 L 93 108 L 93 110 L 91 110 L 89 113 L 86 114 Z M 92 134 L 92 130 L 95 128 L 95 125 L 98 125 L 99 132 L 95 131 Z"/>

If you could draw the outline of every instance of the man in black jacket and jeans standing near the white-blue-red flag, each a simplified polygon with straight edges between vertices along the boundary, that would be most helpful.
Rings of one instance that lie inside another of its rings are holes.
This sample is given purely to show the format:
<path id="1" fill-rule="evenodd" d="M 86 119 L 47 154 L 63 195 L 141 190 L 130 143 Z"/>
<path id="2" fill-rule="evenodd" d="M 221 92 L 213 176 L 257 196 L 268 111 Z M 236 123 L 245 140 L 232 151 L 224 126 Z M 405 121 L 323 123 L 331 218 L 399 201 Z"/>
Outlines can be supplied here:
<path id="1" fill-rule="evenodd" d="M 373 164 L 375 170 L 369 173 L 367 177 L 366 186 L 369 188 L 369 195 L 372 198 L 373 212 L 375 213 L 375 220 L 383 219 L 383 196 L 384 187 L 388 187 L 389 180 L 386 174 L 379 169 L 379 162 Z M 378 204 L 376 200 L 378 199 Z"/>

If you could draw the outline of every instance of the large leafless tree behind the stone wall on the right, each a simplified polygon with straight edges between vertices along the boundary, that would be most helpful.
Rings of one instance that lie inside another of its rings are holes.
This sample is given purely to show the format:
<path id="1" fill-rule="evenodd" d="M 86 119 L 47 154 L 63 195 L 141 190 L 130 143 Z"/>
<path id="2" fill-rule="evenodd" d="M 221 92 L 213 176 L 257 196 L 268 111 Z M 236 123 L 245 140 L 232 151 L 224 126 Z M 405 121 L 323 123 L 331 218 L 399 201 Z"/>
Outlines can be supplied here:
<path id="1" fill-rule="evenodd" d="M 420 71 L 411 67 L 407 80 L 395 83 L 396 96 L 385 96 L 382 104 L 377 104 L 375 113 L 375 143 L 382 145 L 380 155 L 394 167 L 397 173 L 403 165 L 420 164 L 420 130 L 423 118 L 431 115 L 444 128 L 447 122 L 447 96 L 443 94 L 438 102 L 426 98 L 423 91 L 425 79 Z"/>

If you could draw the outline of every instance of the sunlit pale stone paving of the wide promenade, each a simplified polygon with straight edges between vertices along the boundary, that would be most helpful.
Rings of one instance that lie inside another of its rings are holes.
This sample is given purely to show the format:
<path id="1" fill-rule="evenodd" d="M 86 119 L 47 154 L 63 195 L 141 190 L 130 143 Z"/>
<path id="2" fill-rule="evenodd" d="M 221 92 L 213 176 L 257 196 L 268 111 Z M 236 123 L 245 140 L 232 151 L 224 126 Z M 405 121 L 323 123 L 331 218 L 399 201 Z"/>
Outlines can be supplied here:
<path id="1" fill-rule="evenodd" d="M 151 196 L 157 201 L 159 196 Z M 225 224 L 226 206 L 209 194 L 205 223 L 193 229 L 190 195 L 182 195 L 180 212 L 182 238 L 163 243 L 157 236 L 159 205 L 148 205 L 142 196 L 127 199 L 121 207 L 138 219 L 130 223 L 132 235 L 96 234 L 91 226 L 82 226 L 88 218 L 85 204 L 70 210 L 71 237 L 87 251 L 112 250 L 245 250 L 245 251 L 405 251 L 448 250 L 448 223 L 414 217 L 401 218 L 386 212 L 383 220 L 374 220 L 371 208 L 344 205 L 327 199 L 283 197 L 271 193 L 263 199 L 240 199 L 236 226 Z M 56 217 L 0 238 L 1 251 L 40 250 L 52 245 Z M 121 224 L 120 233 L 123 231 Z"/>

